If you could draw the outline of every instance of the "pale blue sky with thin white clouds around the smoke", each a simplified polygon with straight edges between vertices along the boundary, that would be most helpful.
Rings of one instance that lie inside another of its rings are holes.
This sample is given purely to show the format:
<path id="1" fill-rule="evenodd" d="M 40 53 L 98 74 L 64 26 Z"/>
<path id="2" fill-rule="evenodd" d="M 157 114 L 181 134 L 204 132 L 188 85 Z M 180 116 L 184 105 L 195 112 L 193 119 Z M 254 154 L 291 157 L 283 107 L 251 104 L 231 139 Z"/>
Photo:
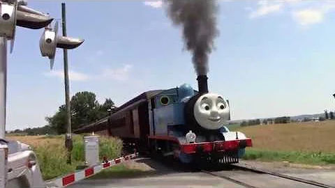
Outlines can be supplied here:
<path id="1" fill-rule="evenodd" d="M 61 18 L 61 1 L 28 1 Z M 198 88 L 181 29 L 161 1 L 65 1 L 70 93 L 92 91 L 117 105 L 150 89 Z M 230 99 L 233 119 L 334 111 L 334 1 L 220 1 L 209 90 Z M 333 20 L 333 21 L 332 21 Z M 8 55 L 6 130 L 39 127 L 64 104 L 63 54 L 40 56 L 43 29 L 17 27 Z"/>

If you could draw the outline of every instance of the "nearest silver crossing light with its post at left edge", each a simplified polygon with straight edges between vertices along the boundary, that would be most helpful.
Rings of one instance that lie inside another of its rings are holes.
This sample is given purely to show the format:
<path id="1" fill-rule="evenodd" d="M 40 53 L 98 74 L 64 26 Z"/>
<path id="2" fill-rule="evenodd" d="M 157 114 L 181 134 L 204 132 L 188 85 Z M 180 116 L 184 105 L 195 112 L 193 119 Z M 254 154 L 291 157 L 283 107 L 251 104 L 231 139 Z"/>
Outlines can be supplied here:
<path id="1" fill-rule="evenodd" d="M 24 1 L 0 1 L 0 139 L 6 133 L 7 42 L 13 52 L 16 26 L 42 29 L 50 22 L 49 15 L 28 8 Z"/>

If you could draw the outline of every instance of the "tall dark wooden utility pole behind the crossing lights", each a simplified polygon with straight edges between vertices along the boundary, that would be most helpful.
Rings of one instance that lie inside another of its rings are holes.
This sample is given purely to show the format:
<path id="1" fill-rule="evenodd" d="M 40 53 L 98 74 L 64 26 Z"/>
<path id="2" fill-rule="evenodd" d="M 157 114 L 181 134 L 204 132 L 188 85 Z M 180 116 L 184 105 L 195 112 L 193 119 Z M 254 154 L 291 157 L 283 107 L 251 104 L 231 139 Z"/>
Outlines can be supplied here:
<path id="1" fill-rule="evenodd" d="M 65 3 L 61 3 L 61 23 L 63 36 L 66 37 L 66 9 Z M 68 49 L 63 49 L 64 54 L 64 85 L 65 85 L 65 104 L 66 104 L 66 122 L 68 132 L 66 134 L 65 146 L 68 149 L 68 164 L 71 164 L 71 151 L 73 148 L 71 133 L 71 107 L 70 107 L 70 87 L 68 84 Z"/>

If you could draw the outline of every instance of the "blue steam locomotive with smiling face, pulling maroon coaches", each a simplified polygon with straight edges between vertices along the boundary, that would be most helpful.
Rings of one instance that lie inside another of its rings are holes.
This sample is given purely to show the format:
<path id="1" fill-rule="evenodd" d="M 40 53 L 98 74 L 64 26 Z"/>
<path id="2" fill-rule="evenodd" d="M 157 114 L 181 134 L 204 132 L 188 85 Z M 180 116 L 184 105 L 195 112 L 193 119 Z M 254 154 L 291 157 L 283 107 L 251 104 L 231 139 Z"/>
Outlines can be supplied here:
<path id="1" fill-rule="evenodd" d="M 238 163 L 251 139 L 230 132 L 230 106 L 222 95 L 209 93 L 207 76 L 198 76 L 199 91 L 184 84 L 147 91 L 117 108 L 110 116 L 75 130 L 117 136 L 125 148 L 173 156 L 183 163 Z"/>

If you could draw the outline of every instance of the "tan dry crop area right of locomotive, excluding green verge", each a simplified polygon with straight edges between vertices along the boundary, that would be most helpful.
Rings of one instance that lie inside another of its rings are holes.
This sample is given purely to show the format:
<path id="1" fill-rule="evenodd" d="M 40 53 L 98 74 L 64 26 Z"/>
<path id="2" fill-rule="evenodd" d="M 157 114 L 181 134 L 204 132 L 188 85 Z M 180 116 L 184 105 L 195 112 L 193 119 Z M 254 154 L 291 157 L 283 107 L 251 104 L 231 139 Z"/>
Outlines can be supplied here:
<path id="1" fill-rule="evenodd" d="M 253 139 L 253 149 L 335 152 L 335 120 L 239 127 Z"/>

